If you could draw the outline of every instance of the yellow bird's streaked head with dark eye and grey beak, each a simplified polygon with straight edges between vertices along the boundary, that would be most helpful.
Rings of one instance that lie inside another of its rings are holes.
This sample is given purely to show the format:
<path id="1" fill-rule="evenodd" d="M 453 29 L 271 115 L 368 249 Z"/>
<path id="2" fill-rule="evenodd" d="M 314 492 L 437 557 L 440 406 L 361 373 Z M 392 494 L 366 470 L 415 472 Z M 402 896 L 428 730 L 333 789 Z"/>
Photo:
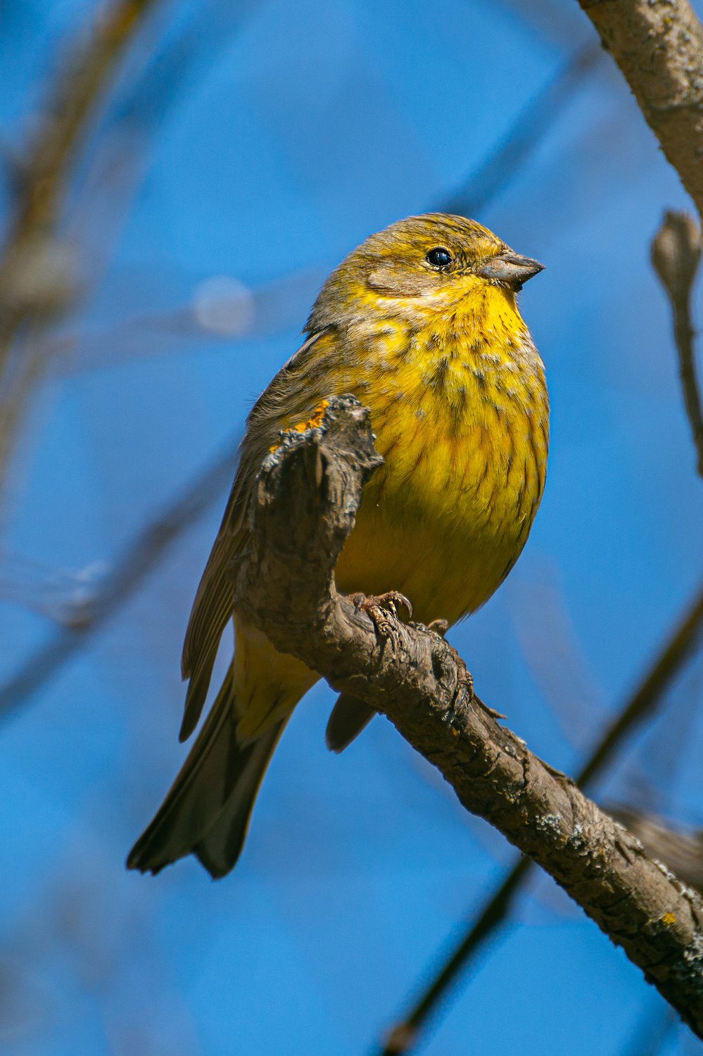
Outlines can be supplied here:
<path id="1" fill-rule="evenodd" d="M 543 269 L 466 216 L 426 213 L 372 234 L 332 271 L 306 329 L 354 323 L 383 310 L 456 310 L 487 295 L 514 309 L 515 294 Z"/>

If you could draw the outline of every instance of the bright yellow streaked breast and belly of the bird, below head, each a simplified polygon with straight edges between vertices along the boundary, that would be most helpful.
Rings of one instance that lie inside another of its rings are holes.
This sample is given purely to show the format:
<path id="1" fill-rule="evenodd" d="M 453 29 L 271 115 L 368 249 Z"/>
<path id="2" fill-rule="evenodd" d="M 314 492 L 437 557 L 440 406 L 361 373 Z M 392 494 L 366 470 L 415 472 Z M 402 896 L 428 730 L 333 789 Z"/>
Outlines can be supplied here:
<path id="1" fill-rule="evenodd" d="M 480 327 L 457 313 L 438 331 L 413 320 L 374 334 L 366 325 L 353 335 L 367 350 L 362 377 L 340 364 L 336 384 L 370 408 L 385 459 L 366 486 L 338 586 L 402 590 L 423 622 L 453 623 L 490 598 L 544 490 L 544 367 L 512 296 L 492 296 L 471 306 Z"/>

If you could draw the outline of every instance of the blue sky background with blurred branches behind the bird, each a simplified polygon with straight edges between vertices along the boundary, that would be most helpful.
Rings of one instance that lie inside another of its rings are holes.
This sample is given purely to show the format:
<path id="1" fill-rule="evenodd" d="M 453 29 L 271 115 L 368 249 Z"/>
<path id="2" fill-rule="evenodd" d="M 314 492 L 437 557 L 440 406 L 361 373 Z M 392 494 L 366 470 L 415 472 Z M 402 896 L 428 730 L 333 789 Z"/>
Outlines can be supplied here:
<path id="1" fill-rule="evenodd" d="M 573 0 L 2 0 L 0 153 L 0 1048 L 378 1051 L 515 860 L 385 720 L 329 755 L 318 685 L 230 876 L 125 870 L 185 755 L 180 645 L 245 416 L 392 221 L 450 207 L 547 265 L 521 298 L 546 496 L 451 640 L 575 773 L 703 574 L 649 264 L 687 199 Z M 703 827 L 702 702 L 694 650 L 594 794 Z M 536 871 L 418 1041 L 698 1048 Z"/>

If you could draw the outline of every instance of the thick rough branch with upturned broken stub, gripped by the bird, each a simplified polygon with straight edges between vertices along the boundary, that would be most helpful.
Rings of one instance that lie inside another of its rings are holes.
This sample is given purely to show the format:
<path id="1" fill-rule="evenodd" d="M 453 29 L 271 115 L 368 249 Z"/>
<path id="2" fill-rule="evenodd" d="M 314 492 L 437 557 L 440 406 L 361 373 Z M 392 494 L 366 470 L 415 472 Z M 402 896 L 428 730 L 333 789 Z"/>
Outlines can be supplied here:
<path id="1" fill-rule="evenodd" d="M 449 645 L 419 624 L 379 644 L 337 593 L 334 566 L 379 465 L 367 412 L 330 400 L 321 428 L 286 434 L 261 470 L 251 545 L 232 566 L 239 615 L 338 691 L 372 704 L 441 771 L 462 805 L 529 854 L 703 1036 L 703 903 L 564 774 L 477 701 L 455 705 Z"/>

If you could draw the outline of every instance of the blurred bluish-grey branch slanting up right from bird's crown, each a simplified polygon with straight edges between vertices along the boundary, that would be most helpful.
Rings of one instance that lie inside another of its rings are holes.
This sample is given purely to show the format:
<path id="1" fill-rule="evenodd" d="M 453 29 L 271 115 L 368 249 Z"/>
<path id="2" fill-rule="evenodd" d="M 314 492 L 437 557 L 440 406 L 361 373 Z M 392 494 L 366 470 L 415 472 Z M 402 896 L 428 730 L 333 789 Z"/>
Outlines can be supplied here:
<path id="1" fill-rule="evenodd" d="M 479 215 L 532 157 L 602 54 L 601 46 L 590 41 L 567 59 L 556 76 L 522 107 L 499 145 L 477 171 L 439 208 L 443 212 Z"/>

